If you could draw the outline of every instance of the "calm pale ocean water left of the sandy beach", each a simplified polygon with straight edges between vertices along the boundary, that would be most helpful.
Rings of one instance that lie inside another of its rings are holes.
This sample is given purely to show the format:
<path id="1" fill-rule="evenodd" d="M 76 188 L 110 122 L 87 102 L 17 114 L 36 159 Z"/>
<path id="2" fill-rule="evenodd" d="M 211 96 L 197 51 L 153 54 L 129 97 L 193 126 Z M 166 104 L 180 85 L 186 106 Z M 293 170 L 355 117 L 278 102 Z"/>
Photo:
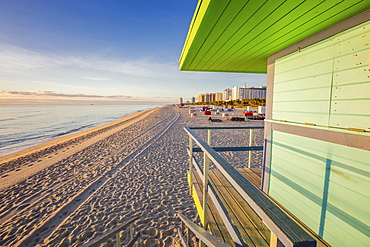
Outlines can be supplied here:
<path id="1" fill-rule="evenodd" d="M 0 105 L 0 156 L 159 105 Z"/>

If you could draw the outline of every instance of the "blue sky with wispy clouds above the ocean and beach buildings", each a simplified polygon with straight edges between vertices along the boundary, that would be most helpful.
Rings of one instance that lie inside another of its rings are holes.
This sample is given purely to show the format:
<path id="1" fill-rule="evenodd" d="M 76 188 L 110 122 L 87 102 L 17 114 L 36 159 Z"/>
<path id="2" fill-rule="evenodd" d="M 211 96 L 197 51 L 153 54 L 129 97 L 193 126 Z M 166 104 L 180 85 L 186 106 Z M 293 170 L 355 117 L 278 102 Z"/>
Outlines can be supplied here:
<path id="1" fill-rule="evenodd" d="M 0 104 L 166 104 L 264 74 L 179 71 L 197 0 L 1 0 Z"/>

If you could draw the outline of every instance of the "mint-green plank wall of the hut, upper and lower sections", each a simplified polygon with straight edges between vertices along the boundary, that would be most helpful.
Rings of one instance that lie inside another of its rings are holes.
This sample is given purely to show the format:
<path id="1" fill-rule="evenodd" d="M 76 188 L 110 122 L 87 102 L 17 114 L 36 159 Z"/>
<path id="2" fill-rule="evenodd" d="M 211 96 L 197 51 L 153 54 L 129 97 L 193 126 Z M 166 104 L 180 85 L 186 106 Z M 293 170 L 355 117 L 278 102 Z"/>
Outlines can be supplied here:
<path id="1" fill-rule="evenodd" d="M 370 21 L 277 59 L 272 119 L 370 141 L 369 60 Z M 268 193 L 331 245 L 369 246 L 370 151 L 272 131 Z"/>

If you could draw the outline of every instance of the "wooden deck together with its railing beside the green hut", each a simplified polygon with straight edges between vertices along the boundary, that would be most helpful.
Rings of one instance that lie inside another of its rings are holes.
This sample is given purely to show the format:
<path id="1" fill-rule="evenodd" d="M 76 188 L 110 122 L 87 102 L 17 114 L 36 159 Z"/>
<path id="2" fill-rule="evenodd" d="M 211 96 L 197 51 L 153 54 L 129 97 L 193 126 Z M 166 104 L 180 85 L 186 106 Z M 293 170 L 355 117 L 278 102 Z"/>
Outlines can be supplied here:
<path id="1" fill-rule="evenodd" d="M 261 169 L 236 170 L 217 153 L 256 151 L 260 150 L 260 146 L 212 148 L 207 144 L 211 142 L 210 131 L 212 129 L 249 129 L 251 131 L 255 128 L 257 127 L 184 128 L 190 136 L 188 152 L 191 158 L 189 170 L 192 173 L 188 174 L 189 185 L 202 224 L 206 221 L 207 230 L 230 246 L 276 247 L 282 246 L 282 243 L 286 246 L 330 246 L 274 198 L 259 189 Z M 196 129 L 208 130 L 207 142 L 193 131 Z M 199 165 L 193 156 L 193 153 L 197 152 L 203 152 L 203 165 Z M 209 170 L 210 160 L 215 170 Z M 204 190 L 201 179 L 203 173 L 206 174 L 205 179 L 209 181 L 208 192 Z M 204 217 L 203 213 L 203 191 L 208 194 L 207 217 Z"/>

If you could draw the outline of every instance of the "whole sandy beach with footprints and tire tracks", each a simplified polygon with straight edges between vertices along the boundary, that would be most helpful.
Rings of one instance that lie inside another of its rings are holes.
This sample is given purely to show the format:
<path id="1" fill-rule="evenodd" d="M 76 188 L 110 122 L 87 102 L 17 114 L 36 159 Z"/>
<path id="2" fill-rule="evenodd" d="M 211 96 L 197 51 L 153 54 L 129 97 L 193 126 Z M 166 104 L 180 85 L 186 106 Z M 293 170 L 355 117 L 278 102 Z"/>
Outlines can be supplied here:
<path id="1" fill-rule="evenodd" d="M 0 157 L 0 246 L 80 246 L 133 216 L 142 231 L 136 246 L 175 246 L 176 213 L 196 217 L 183 127 L 263 126 L 212 117 L 222 122 L 190 117 L 186 108 L 155 108 Z M 248 141 L 246 131 L 212 133 L 213 146 Z M 263 131 L 256 130 L 255 145 L 262 143 Z M 222 156 L 235 167 L 247 165 L 247 152 Z M 262 152 L 253 160 L 259 167 Z M 128 239 L 123 233 L 123 244 Z M 112 239 L 104 246 L 113 245 Z"/>

